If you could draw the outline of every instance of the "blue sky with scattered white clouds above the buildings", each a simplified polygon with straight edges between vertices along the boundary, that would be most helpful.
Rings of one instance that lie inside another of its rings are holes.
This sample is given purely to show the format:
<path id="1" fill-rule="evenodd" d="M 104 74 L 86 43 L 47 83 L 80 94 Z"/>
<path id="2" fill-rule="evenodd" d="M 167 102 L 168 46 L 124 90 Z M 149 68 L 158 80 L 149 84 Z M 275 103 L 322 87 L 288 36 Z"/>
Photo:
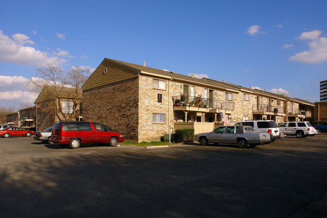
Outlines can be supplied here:
<path id="1" fill-rule="evenodd" d="M 31 106 L 36 66 L 107 57 L 319 101 L 327 1 L 2 1 L 0 107 Z"/>

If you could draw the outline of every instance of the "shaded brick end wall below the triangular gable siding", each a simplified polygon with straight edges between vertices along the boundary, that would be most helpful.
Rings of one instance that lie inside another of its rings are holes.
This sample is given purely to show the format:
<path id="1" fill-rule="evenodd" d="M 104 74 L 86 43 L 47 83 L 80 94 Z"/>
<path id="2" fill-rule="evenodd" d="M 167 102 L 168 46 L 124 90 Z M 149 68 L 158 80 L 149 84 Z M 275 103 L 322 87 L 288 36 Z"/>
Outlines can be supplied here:
<path id="1" fill-rule="evenodd" d="M 138 139 L 138 78 L 83 91 L 83 120 L 103 123 L 123 134 L 125 139 Z"/>

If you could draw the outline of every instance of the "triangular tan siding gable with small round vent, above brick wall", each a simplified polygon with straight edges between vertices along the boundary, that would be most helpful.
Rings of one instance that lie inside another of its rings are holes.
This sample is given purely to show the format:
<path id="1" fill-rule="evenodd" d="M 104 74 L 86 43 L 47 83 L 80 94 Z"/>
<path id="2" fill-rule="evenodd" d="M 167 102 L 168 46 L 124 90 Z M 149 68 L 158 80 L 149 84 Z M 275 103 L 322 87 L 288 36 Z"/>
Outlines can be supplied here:
<path id="1" fill-rule="evenodd" d="M 107 68 L 107 74 L 104 69 Z M 134 69 L 104 60 L 94 71 L 88 81 L 83 85 L 82 90 L 88 90 L 95 87 L 128 80 L 138 76 L 138 72 Z"/>

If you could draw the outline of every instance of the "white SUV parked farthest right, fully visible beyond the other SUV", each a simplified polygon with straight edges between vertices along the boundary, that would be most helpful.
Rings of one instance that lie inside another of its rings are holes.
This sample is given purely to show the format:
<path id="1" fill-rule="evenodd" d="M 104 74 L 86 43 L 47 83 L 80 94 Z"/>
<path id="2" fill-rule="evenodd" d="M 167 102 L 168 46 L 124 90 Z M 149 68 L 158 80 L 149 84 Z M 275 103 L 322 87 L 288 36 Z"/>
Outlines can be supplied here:
<path id="1" fill-rule="evenodd" d="M 315 135 L 314 128 L 308 121 L 284 122 L 279 128 L 285 135 L 296 135 L 298 138 Z"/>

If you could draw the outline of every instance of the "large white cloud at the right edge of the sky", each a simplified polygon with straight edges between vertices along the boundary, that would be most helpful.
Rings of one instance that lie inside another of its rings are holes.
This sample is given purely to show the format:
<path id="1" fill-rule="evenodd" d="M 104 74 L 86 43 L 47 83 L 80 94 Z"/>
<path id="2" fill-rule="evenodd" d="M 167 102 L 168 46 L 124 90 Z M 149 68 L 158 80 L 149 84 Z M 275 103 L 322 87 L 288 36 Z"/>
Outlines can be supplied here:
<path id="1" fill-rule="evenodd" d="M 319 63 L 327 60 L 327 38 L 322 37 L 320 30 L 301 33 L 299 40 L 308 40 L 309 50 L 296 53 L 288 58 L 304 63 Z"/>

